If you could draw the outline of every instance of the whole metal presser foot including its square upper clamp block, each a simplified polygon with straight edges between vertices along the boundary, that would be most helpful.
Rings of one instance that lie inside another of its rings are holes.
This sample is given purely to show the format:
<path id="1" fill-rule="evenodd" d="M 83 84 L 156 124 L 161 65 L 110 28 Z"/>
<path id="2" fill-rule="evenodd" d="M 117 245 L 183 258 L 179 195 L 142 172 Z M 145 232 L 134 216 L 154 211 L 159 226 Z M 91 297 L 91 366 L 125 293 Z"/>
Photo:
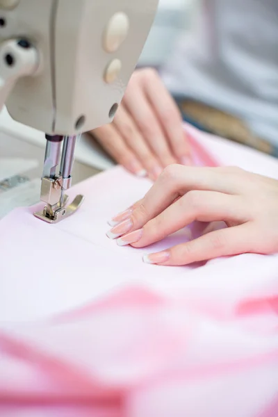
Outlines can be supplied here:
<path id="1" fill-rule="evenodd" d="M 70 181 L 67 179 L 67 186 Z M 74 214 L 84 201 L 83 195 L 76 195 L 72 203 L 67 206 L 69 197 L 63 194 L 63 178 L 43 178 L 41 188 L 41 200 L 47 203 L 42 211 L 34 213 L 36 218 L 47 223 L 58 223 Z M 65 185 L 65 181 L 64 181 Z"/>

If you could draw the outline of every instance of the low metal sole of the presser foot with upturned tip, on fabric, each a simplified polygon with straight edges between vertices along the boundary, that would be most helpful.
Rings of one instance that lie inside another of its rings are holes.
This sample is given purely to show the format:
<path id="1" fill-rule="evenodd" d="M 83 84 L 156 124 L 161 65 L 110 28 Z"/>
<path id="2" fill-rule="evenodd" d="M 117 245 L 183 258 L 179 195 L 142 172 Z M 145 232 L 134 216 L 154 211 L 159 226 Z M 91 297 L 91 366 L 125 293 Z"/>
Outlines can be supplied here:
<path id="1" fill-rule="evenodd" d="M 67 201 L 68 198 L 69 197 L 67 195 L 64 195 L 64 200 Z M 68 206 L 59 206 L 59 208 L 57 208 L 53 214 L 51 214 L 51 212 L 49 213 L 49 207 L 45 206 L 42 211 L 36 211 L 34 215 L 36 218 L 43 220 L 44 222 L 58 223 L 61 220 L 74 214 L 83 203 L 84 198 L 85 197 L 83 195 L 76 195 L 72 203 L 70 203 Z"/>

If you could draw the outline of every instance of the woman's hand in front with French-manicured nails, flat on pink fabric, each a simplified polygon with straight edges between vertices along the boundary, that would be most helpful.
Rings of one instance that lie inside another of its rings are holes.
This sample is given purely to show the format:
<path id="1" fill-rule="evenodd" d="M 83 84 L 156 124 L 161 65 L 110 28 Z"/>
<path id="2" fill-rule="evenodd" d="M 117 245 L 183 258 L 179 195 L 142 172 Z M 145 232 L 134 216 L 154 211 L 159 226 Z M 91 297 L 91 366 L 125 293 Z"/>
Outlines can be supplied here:
<path id="1" fill-rule="evenodd" d="M 245 252 L 278 252 L 278 181 L 235 167 L 170 165 L 140 202 L 113 218 L 116 225 L 108 237 L 119 245 L 145 247 L 194 220 L 224 221 L 228 227 L 149 254 L 145 261 L 186 265 Z"/>

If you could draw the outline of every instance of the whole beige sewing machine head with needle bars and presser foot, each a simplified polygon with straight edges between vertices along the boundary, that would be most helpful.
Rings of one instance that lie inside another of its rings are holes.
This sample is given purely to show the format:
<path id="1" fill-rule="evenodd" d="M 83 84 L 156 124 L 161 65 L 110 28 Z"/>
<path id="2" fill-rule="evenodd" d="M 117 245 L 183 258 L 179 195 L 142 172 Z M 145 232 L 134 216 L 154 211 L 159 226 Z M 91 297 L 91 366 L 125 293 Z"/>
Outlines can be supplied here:
<path id="1" fill-rule="evenodd" d="M 76 138 L 113 121 L 157 3 L 0 0 L 0 108 L 46 133 L 41 220 L 59 222 L 81 206 L 82 195 L 68 204 L 65 194 Z"/>

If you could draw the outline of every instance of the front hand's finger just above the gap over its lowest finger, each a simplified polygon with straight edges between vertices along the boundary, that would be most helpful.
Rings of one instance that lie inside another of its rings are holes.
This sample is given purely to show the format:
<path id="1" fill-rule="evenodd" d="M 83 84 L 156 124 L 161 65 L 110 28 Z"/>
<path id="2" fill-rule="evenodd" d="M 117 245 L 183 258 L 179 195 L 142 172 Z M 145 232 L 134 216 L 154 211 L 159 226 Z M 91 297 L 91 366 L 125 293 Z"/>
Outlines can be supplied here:
<path id="1" fill-rule="evenodd" d="M 145 247 L 188 226 L 195 220 L 238 221 L 242 217 L 243 207 L 240 204 L 240 197 L 211 191 L 190 191 L 156 218 L 149 220 L 136 233 L 124 234 L 117 243 L 121 246 Z"/>

